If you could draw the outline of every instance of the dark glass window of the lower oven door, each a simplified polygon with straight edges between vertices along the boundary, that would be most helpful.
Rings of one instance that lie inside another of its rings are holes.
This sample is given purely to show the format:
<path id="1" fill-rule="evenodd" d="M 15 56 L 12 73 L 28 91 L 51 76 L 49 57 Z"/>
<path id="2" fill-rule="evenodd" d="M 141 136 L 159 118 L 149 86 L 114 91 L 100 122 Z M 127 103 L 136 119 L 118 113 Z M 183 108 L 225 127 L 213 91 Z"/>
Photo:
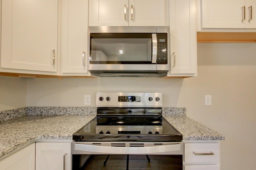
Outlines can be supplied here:
<path id="1" fill-rule="evenodd" d="M 81 155 L 73 155 L 79 156 Z M 73 161 L 74 162 L 74 161 Z M 182 170 L 182 155 L 90 155 L 87 161 L 73 170 Z"/>

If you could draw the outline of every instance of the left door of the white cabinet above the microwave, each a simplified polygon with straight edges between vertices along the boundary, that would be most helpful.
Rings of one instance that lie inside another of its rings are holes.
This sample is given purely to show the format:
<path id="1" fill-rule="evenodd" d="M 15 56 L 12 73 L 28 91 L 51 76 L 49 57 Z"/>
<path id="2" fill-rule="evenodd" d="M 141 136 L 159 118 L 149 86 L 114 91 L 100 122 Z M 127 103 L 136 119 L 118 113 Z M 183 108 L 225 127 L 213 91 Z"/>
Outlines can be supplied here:
<path id="1" fill-rule="evenodd" d="M 128 0 L 90 0 L 89 26 L 128 26 Z"/>

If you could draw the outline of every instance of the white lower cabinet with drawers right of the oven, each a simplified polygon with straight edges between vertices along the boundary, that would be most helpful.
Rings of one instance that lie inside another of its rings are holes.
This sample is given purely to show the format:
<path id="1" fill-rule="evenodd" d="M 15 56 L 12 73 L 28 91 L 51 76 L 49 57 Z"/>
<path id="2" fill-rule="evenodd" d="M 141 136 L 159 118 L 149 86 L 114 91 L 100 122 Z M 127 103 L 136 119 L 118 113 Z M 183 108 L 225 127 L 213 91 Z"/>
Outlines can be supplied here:
<path id="1" fill-rule="evenodd" d="M 184 170 L 220 170 L 219 141 L 183 141 Z"/>

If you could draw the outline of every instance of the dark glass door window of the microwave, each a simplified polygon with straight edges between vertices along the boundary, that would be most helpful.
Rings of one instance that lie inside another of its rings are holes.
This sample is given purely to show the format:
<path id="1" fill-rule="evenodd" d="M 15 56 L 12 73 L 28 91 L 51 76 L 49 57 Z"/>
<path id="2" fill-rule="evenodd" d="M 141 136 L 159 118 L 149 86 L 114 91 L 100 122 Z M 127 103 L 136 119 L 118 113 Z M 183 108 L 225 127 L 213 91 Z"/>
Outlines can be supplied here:
<path id="1" fill-rule="evenodd" d="M 112 33 L 107 37 L 102 35 L 104 38 L 95 34 L 90 39 L 90 64 L 152 63 L 152 34 L 136 37 Z"/>

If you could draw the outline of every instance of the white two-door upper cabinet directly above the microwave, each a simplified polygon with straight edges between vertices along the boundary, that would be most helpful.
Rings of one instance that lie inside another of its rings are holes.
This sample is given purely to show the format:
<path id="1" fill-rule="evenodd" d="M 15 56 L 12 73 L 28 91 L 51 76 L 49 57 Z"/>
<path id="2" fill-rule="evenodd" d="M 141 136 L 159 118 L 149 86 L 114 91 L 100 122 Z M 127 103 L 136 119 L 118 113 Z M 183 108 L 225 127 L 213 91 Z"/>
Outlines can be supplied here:
<path id="1" fill-rule="evenodd" d="M 166 0 L 89 1 L 89 26 L 166 25 Z"/>

